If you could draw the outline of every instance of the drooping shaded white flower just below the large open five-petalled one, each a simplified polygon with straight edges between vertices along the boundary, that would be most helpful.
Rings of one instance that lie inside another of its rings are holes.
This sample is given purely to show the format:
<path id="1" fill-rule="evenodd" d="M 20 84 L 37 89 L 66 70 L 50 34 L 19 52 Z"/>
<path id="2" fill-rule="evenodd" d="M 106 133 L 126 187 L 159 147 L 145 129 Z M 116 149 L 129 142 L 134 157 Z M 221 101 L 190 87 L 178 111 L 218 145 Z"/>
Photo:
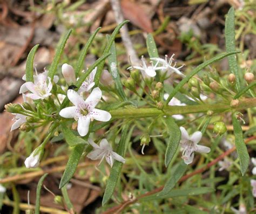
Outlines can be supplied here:
<path id="1" fill-rule="evenodd" d="M 102 162 L 102 160 L 106 159 L 106 162 L 110 164 L 110 166 L 113 166 L 114 160 L 120 161 L 122 163 L 125 163 L 125 159 L 115 153 L 106 139 L 102 139 L 100 141 L 99 146 L 95 142 L 93 142 L 91 139 L 88 140 L 88 142 L 93 147 L 93 150 L 87 155 L 91 160 L 99 160 L 99 164 Z"/>

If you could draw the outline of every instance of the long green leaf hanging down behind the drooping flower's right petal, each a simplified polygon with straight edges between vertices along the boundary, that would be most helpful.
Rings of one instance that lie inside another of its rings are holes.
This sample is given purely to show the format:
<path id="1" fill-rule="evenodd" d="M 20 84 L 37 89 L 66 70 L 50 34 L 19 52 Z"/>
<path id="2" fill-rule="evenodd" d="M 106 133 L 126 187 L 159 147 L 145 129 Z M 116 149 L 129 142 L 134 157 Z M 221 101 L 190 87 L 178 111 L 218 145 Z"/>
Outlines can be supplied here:
<path id="1" fill-rule="evenodd" d="M 127 132 L 128 132 L 129 126 L 130 124 L 126 125 L 123 128 L 122 136 L 117 147 L 117 153 L 123 157 L 124 157 L 124 151 L 125 151 L 125 142 L 127 142 L 126 138 L 127 138 Z M 103 206 L 109 201 L 109 199 L 113 195 L 114 188 L 116 187 L 118 179 L 121 175 L 122 165 L 123 165 L 122 162 L 114 161 L 113 167 L 110 171 L 109 179 L 107 180 L 106 189 L 105 189 L 103 200 L 102 200 Z"/>

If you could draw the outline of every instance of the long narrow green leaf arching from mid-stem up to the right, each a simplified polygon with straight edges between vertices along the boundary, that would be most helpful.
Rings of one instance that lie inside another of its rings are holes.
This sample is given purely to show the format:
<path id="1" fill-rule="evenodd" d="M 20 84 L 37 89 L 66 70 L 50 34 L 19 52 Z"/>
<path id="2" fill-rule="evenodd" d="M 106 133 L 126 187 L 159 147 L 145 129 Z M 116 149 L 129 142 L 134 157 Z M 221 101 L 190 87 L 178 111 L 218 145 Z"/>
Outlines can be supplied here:
<path id="1" fill-rule="evenodd" d="M 219 54 L 219 56 L 214 57 L 210 60 L 207 60 L 204 63 L 202 63 L 201 65 L 194 68 L 194 70 L 192 70 L 190 72 L 190 74 L 188 74 L 183 80 L 181 80 L 179 82 L 179 84 L 173 89 L 173 91 L 169 95 L 168 99 L 165 101 L 166 105 L 170 102 L 170 100 L 173 98 L 173 96 L 175 96 L 179 92 L 179 89 L 182 88 L 186 84 L 186 82 L 188 82 L 190 80 L 190 78 L 192 78 L 194 75 L 196 75 L 199 71 L 201 71 L 203 68 L 207 67 L 208 65 L 215 63 L 215 61 L 219 61 L 219 60 L 221 60 L 227 56 L 230 56 L 232 54 L 235 54 L 235 53 L 240 53 L 240 51 Z"/>

